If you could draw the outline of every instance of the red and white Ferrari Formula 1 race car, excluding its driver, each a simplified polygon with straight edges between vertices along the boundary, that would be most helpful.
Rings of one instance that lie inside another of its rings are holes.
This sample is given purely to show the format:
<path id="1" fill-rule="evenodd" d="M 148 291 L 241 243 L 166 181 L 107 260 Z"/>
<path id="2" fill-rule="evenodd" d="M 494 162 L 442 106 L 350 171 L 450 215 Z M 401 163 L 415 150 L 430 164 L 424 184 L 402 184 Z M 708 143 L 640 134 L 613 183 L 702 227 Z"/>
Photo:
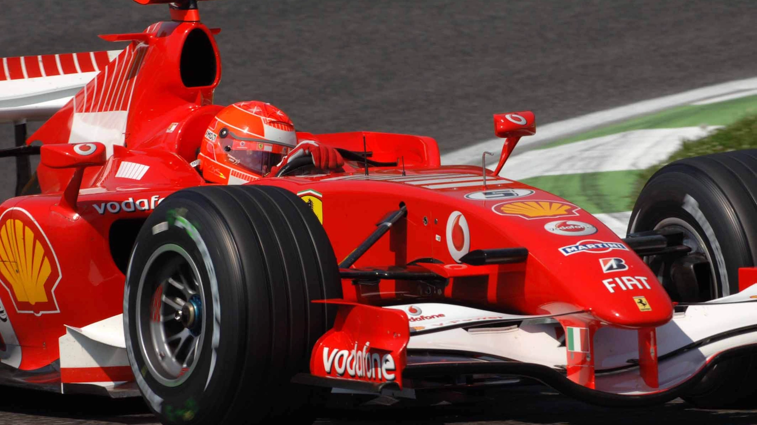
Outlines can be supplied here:
<path id="1" fill-rule="evenodd" d="M 221 137 L 219 30 L 194 0 L 169 8 L 102 36 L 120 52 L 3 59 L 16 97 L 0 119 L 49 119 L 2 152 L 22 177 L 0 206 L 2 384 L 141 394 L 163 423 L 513 378 L 598 405 L 754 396 L 757 153 L 665 166 L 623 239 L 500 177 L 530 112 L 494 115 L 494 170 L 442 166 L 432 138 L 345 132 L 315 135 L 338 169 L 306 155 L 210 184 L 197 158 Z M 87 72 L 62 107 L 39 100 Z"/>

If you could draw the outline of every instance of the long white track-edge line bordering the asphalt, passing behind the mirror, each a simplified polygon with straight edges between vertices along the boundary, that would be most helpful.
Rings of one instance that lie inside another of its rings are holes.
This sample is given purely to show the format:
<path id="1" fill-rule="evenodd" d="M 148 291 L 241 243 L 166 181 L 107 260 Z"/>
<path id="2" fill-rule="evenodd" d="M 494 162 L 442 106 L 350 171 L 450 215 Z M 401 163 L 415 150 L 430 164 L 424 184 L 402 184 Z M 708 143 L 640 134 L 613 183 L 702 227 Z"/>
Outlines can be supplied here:
<path id="1" fill-rule="evenodd" d="M 641 101 L 635 104 L 628 104 L 621 107 L 615 107 L 609 110 L 602 110 L 595 113 L 589 113 L 576 118 L 565 119 L 556 123 L 537 125 L 536 135 L 522 138 L 519 146 L 513 152 L 514 155 L 525 152 L 523 147 L 534 144 L 545 143 L 557 138 L 564 138 L 569 135 L 575 135 L 581 132 L 587 132 L 599 126 L 609 123 L 615 123 L 623 119 L 629 119 L 634 116 L 646 115 L 648 113 L 665 110 L 670 107 L 676 107 L 684 104 L 691 104 L 696 101 L 702 101 L 717 96 L 729 95 L 731 93 L 743 92 L 746 90 L 757 89 L 757 77 L 749 79 L 740 79 L 737 81 L 724 82 L 717 85 L 696 88 L 688 92 L 678 93 L 676 95 L 664 96 L 662 98 Z M 528 105 L 523 105 L 527 108 Z M 498 111 L 506 112 L 506 111 Z M 538 117 L 537 117 L 538 123 Z M 463 147 L 463 149 L 453 150 L 441 156 L 443 164 L 480 164 L 481 153 L 489 150 L 499 154 L 502 149 L 502 139 L 493 138 L 481 141 L 476 144 Z M 507 167 L 505 167 L 506 169 Z"/>

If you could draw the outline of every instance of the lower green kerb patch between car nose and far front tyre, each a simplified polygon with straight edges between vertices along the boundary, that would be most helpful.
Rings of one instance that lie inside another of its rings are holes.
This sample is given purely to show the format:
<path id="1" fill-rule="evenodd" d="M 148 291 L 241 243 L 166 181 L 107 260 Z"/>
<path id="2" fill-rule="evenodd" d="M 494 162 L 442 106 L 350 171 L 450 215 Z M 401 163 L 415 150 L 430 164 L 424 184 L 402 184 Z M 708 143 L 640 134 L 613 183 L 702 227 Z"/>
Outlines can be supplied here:
<path id="1" fill-rule="evenodd" d="M 589 213 L 618 213 L 633 208 L 637 170 L 540 175 L 526 178 L 527 185 L 556 194 Z"/>

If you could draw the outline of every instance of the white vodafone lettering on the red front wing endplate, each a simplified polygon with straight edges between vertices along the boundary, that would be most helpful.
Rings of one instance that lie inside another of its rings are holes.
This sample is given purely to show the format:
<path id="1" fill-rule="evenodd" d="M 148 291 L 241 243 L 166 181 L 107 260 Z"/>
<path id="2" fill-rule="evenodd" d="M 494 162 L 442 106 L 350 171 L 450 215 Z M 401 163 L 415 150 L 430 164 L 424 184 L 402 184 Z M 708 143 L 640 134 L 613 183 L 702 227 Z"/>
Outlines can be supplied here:
<path id="1" fill-rule="evenodd" d="M 365 380 L 394 380 L 394 371 L 396 365 L 391 354 L 378 354 L 370 352 L 370 343 L 366 343 L 363 349 L 357 348 L 355 343 L 351 351 L 346 349 L 332 349 L 323 347 L 323 368 L 326 374 L 331 374 L 332 370 L 337 376 L 342 377 L 346 373 L 352 378 L 362 378 Z"/>

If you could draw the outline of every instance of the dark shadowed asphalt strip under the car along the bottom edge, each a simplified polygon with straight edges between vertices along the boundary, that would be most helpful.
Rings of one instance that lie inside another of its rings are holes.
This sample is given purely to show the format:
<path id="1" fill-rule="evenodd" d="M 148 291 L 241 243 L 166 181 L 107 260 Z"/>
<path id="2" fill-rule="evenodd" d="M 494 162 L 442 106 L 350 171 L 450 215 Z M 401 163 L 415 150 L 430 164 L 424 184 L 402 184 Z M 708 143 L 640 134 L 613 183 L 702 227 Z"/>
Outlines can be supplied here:
<path id="1" fill-rule="evenodd" d="M 0 392 L 2 393 L 2 392 Z M 0 423 L 154 425 L 141 399 L 103 400 L 13 390 L 2 396 Z M 757 423 L 757 411 L 705 411 L 680 399 L 653 408 L 597 408 L 559 396 L 541 386 L 506 389 L 488 400 L 432 407 L 329 408 L 318 425 L 742 425 Z M 294 425 L 294 423 L 293 423 Z"/>

